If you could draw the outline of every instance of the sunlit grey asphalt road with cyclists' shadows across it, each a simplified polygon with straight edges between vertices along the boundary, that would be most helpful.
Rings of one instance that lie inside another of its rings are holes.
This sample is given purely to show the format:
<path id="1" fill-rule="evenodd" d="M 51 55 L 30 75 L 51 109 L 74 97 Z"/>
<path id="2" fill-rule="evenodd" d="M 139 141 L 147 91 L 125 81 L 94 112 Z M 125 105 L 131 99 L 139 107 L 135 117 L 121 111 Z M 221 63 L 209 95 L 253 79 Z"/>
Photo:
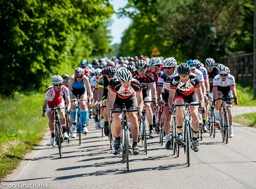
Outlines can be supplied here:
<path id="1" fill-rule="evenodd" d="M 241 110 L 234 108 L 234 115 L 255 112 L 256 108 Z M 191 153 L 190 167 L 183 150 L 177 158 L 165 150 L 165 144 L 158 143 L 157 136 L 148 140 L 147 155 L 140 143 L 140 154 L 130 157 L 129 172 L 121 155 L 111 154 L 108 138 L 102 138 L 93 123 L 81 146 L 78 138 L 71 139 L 70 144 L 64 142 L 62 158 L 57 147 L 49 146 L 47 131 L 40 145 L 1 184 L 11 188 L 24 184 L 26 188 L 29 183 L 46 183 L 51 189 L 255 189 L 256 129 L 233 125 L 235 136 L 228 144 L 222 143 L 219 130 L 215 138 L 204 133 L 199 152 Z"/>

